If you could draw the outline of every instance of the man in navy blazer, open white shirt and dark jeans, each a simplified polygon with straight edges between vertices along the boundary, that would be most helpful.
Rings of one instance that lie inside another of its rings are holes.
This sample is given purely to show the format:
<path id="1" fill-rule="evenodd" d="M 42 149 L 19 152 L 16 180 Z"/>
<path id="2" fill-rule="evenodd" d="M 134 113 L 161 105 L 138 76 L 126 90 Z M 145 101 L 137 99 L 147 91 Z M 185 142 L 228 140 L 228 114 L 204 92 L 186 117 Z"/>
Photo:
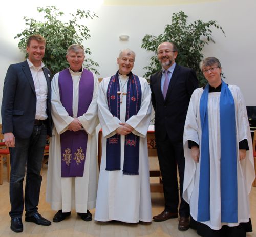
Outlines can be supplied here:
<path id="1" fill-rule="evenodd" d="M 10 148 L 11 229 L 23 231 L 25 221 L 51 225 L 37 211 L 42 177 L 42 158 L 47 135 L 51 135 L 51 75 L 44 67 L 46 41 L 32 35 L 27 41 L 28 59 L 12 64 L 7 71 L 2 100 L 2 133 Z M 25 197 L 23 180 L 26 176 Z"/>

